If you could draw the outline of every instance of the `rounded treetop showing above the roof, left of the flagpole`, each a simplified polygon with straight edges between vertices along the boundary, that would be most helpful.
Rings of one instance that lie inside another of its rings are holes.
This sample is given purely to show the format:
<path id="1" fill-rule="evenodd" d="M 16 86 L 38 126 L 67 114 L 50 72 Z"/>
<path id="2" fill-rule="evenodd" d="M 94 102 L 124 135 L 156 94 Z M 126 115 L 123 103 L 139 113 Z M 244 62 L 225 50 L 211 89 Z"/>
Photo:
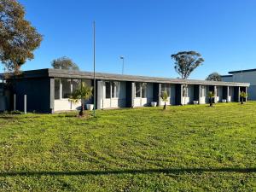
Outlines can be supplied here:
<path id="1" fill-rule="evenodd" d="M 66 69 L 66 70 L 73 70 L 79 71 L 79 67 L 75 64 L 71 59 L 66 56 L 63 56 L 59 59 L 56 59 L 51 62 L 51 66 L 56 69 Z"/>

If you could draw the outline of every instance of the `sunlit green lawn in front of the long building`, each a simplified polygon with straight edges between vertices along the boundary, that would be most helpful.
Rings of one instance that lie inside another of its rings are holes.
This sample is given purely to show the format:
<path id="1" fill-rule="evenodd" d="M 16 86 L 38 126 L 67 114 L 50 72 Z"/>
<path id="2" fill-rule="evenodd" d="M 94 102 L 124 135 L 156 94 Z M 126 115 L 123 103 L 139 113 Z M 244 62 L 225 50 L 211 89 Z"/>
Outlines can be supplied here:
<path id="1" fill-rule="evenodd" d="M 255 191 L 256 102 L 0 115 L 0 191 Z"/>

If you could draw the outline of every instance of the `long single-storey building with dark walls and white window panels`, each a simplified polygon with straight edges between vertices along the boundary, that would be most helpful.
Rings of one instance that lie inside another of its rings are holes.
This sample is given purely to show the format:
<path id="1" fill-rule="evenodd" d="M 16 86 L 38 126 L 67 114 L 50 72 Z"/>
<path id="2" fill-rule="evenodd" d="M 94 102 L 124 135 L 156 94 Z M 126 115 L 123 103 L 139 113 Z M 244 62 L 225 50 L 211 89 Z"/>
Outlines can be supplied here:
<path id="1" fill-rule="evenodd" d="M 0 85 L 0 110 L 15 108 L 23 111 L 25 100 L 26 110 L 30 112 L 76 110 L 80 108 L 80 103 L 70 102 L 69 96 L 81 83 L 96 88 L 96 109 L 136 108 L 150 106 L 151 102 L 161 106 L 164 102 L 160 95 L 165 90 L 169 96 L 168 105 L 205 104 L 209 91 L 215 93 L 214 102 L 240 102 L 240 91 L 247 92 L 250 85 L 96 73 L 95 86 L 93 79 L 94 74 L 88 72 L 61 69 L 25 71 L 7 79 L 2 84 L 5 89 L 1 90 Z M 85 103 L 93 103 L 93 98 Z"/>

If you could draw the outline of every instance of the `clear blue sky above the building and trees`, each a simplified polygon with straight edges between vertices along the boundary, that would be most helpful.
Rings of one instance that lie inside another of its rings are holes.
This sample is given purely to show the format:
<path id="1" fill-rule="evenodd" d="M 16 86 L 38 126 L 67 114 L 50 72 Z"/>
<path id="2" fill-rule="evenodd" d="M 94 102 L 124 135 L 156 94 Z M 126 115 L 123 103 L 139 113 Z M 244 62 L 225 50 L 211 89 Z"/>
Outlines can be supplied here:
<path id="1" fill-rule="evenodd" d="M 256 67 L 255 0 L 20 0 L 26 19 L 44 35 L 23 70 L 50 67 L 68 56 L 92 71 L 92 21 L 96 20 L 96 71 L 177 78 L 172 54 L 204 57 L 191 79 Z"/>

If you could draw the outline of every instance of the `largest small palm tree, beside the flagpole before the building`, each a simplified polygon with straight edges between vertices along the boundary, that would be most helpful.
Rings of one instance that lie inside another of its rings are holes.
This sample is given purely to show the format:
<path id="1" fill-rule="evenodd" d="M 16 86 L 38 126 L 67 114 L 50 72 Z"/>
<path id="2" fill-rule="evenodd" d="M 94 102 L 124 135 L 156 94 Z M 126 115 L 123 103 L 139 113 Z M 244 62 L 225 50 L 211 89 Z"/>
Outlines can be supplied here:
<path id="1" fill-rule="evenodd" d="M 92 87 L 87 84 L 80 84 L 77 90 L 74 90 L 69 98 L 71 102 L 81 102 L 79 116 L 84 116 L 84 101 L 92 96 Z"/>

